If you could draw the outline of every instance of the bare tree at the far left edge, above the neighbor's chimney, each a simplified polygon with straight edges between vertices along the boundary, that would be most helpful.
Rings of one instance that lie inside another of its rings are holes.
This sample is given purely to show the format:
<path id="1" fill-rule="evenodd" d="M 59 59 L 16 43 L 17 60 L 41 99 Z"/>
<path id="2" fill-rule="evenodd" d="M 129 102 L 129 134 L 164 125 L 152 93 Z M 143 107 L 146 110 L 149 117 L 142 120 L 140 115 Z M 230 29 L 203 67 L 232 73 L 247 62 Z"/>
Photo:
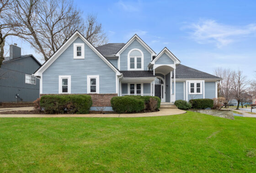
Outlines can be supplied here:
<path id="1" fill-rule="evenodd" d="M 11 9 L 15 6 L 13 0 L 0 0 L 0 67 L 5 59 L 5 39 L 8 36 L 18 36 L 20 32 L 13 32 L 12 28 L 20 26 L 13 20 Z"/>

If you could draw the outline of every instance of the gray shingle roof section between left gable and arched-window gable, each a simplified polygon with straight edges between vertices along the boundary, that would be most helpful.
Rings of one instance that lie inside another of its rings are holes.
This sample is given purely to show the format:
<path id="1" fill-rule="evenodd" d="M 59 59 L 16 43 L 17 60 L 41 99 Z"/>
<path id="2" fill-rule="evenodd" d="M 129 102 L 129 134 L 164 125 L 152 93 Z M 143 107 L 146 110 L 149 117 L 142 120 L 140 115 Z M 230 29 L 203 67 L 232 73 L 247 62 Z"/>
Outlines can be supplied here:
<path id="1" fill-rule="evenodd" d="M 101 52 L 102 55 L 115 55 L 125 43 L 108 43 L 106 45 L 98 46 L 96 49 Z"/>

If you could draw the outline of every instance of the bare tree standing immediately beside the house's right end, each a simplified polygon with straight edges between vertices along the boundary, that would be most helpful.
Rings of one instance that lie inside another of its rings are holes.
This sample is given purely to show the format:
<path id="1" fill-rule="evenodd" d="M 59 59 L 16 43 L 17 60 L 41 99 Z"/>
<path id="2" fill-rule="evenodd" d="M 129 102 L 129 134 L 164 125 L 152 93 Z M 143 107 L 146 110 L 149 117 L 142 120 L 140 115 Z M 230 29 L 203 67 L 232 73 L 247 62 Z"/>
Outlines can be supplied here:
<path id="1" fill-rule="evenodd" d="M 221 77 L 222 80 L 218 83 L 218 88 L 220 95 L 224 97 L 227 101 L 230 99 L 231 92 L 231 75 L 230 69 L 223 69 L 221 67 L 215 69 L 215 76 Z"/>

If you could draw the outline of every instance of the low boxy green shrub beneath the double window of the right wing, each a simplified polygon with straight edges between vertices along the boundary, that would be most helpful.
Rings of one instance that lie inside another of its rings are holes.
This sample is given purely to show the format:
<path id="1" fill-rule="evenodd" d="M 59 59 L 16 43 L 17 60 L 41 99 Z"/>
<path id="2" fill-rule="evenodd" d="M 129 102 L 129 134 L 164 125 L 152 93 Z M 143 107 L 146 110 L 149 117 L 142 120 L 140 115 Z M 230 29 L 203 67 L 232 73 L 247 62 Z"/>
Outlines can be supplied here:
<path id="1" fill-rule="evenodd" d="M 189 102 L 192 104 L 192 109 L 213 108 L 213 100 L 209 98 L 191 99 Z"/>

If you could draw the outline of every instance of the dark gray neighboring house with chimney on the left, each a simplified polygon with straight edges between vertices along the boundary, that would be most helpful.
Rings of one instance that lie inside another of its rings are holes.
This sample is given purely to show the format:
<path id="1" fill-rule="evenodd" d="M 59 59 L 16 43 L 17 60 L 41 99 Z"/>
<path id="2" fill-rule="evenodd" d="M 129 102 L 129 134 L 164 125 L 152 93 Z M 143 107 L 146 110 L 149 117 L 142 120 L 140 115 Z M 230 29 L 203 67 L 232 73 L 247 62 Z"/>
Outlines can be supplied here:
<path id="1" fill-rule="evenodd" d="M 22 55 L 21 48 L 10 46 L 10 56 L 0 67 L 0 102 L 33 102 L 39 98 L 40 81 L 33 72 L 41 66 L 33 55 Z"/>

